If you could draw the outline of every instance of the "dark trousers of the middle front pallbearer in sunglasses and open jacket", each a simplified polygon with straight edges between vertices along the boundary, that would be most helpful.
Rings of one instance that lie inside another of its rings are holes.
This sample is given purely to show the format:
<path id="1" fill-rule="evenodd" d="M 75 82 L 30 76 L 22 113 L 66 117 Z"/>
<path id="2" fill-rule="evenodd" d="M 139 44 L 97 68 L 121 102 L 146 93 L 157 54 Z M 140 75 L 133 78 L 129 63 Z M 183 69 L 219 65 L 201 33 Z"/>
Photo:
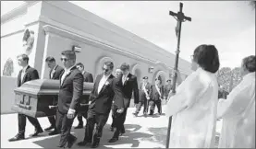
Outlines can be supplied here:
<path id="1" fill-rule="evenodd" d="M 102 137 L 104 125 L 108 119 L 108 116 L 109 116 L 109 112 L 107 114 L 99 114 L 99 113 L 88 111 L 87 122 L 85 126 L 84 141 L 87 141 L 87 142 L 92 141 L 92 133 L 93 133 L 95 124 L 96 124 L 96 130 L 95 130 L 94 136 L 97 138 Z"/>

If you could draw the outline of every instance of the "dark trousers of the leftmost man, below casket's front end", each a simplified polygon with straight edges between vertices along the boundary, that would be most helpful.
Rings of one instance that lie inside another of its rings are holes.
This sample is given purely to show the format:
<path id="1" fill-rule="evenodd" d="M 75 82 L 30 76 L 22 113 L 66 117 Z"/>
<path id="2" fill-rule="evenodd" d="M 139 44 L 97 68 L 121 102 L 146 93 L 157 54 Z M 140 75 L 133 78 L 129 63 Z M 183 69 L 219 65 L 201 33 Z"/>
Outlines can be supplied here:
<path id="1" fill-rule="evenodd" d="M 42 127 L 36 118 L 32 118 L 30 116 L 18 113 L 18 134 L 24 135 L 27 123 L 26 118 L 30 120 L 30 123 L 35 127 L 36 130 L 42 130 Z"/>

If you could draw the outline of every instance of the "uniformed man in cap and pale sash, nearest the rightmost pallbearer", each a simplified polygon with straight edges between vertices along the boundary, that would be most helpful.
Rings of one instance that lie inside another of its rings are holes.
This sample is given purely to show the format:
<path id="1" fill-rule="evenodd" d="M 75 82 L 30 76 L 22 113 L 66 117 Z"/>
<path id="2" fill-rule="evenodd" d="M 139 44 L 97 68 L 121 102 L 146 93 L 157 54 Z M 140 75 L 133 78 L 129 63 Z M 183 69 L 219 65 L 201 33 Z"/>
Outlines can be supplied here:
<path id="1" fill-rule="evenodd" d="M 148 108 L 149 108 L 149 100 L 152 92 L 152 85 L 148 82 L 149 77 L 144 76 L 143 82 L 140 84 L 140 102 L 138 105 L 136 105 L 136 111 L 133 113 L 135 116 L 138 116 L 141 107 L 143 106 L 143 114 L 146 116 L 148 114 Z"/>

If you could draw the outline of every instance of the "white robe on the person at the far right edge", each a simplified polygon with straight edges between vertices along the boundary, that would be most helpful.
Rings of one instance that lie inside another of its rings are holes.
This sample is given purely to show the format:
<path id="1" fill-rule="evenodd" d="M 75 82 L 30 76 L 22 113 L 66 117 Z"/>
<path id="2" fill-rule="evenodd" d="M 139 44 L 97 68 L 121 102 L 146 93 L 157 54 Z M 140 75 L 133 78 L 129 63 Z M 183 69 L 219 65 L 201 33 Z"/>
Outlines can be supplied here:
<path id="1" fill-rule="evenodd" d="M 255 148 L 255 73 L 219 100 L 218 117 L 223 118 L 219 148 Z"/>

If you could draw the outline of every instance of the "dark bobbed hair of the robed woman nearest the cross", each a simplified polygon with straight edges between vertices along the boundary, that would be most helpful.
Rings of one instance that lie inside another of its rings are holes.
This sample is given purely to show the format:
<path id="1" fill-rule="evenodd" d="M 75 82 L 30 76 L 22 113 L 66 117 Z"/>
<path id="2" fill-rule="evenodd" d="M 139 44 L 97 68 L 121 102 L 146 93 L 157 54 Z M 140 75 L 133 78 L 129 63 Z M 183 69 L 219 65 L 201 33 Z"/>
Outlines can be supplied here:
<path id="1" fill-rule="evenodd" d="M 218 50 L 213 45 L 198 46 L 194 51 L 193 61 L 211 73 L 216 73 L 220 66 Z"/>

